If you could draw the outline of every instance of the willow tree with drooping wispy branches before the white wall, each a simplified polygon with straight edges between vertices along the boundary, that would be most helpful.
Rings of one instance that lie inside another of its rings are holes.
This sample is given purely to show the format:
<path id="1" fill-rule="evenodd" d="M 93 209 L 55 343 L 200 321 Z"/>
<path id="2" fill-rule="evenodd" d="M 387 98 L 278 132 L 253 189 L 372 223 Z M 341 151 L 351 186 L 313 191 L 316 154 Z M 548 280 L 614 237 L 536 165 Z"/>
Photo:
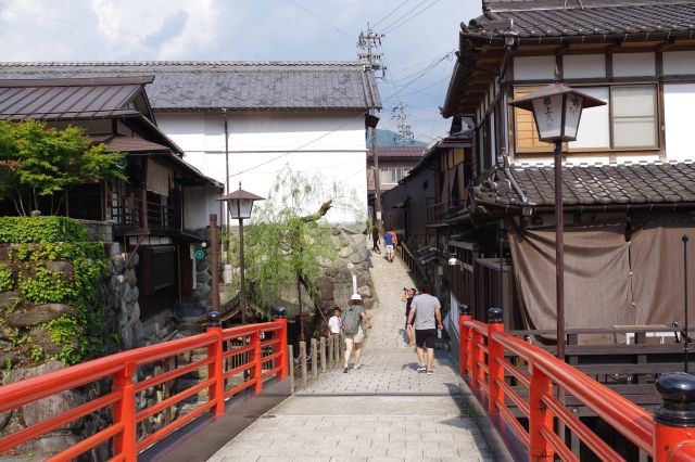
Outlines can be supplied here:
<path id="1" fill-rule="evenodd" d="M 354 191 L 336 182 L 327 184 L 319 174 L 309 177 L 286 167 L 265 202 L 254 209 L 252 224 L 244 227 L 248 293 L 254 301 L 270 307 L 288 290 L 295 290 L 302 322 L 304 287 L 319 310 L 321 267 L 337 257 L 333 229 L 326 214 L 331 209 L 350 210 L 355 221 L 362 221 L 364 210 L 358 204 Z M 232 254 L 238 252 L 238 245 L 229 248 Z M 304 335 L 303 325 L 300 335 Z"/>

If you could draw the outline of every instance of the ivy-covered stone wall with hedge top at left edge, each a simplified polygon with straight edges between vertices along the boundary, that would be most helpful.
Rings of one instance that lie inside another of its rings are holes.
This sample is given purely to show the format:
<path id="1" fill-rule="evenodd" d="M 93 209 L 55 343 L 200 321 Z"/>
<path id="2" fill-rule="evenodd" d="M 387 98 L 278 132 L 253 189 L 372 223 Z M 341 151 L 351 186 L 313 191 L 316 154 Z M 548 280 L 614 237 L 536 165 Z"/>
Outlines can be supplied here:
<path id="1" fill-rule="evenodd" d="M 13 342 L 15 357 L 23 362 L 59 359 L 74 364 L 100 356 L 108 269 L 103 244 L 74 242 L 87 235 L 67 218 L 0 218 L 0 242 L 21 242 L 0 244 L 0 320 L 23 339 Z M 47 239 L 26 243 L 43 235 L 42 224 Z M 58 239 L 73 242 L 47 242 Z M 14 301 L 2 304 L 3 295 Z"/>

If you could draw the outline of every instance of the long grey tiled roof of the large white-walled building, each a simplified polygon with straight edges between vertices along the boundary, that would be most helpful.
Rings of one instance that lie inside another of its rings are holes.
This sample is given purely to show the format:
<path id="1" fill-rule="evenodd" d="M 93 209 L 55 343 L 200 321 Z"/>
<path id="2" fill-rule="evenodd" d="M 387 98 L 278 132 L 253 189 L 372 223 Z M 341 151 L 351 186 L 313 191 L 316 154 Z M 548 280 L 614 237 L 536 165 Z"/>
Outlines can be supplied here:
<path id="1" fill-rule="evenodd" d="M 0 63 L 0 79 L 153 75 L 154 110 L 381 107 L 371 70 L 356 62 Z"/>

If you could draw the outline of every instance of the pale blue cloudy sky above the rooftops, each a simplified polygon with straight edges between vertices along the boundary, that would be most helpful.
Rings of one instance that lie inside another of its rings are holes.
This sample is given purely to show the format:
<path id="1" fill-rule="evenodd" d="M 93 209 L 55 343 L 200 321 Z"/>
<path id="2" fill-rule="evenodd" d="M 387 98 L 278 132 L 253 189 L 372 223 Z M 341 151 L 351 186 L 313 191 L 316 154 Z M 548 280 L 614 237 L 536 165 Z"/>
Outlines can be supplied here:
<path id="1" fill-rule="evenodd" d="M 367 22 L 386 33 L 380 128 L 403 103 L 416 138 L 439 115 L 462 22 L 481 0 L 0 0 L 2 61 L 354 61 Z"/>

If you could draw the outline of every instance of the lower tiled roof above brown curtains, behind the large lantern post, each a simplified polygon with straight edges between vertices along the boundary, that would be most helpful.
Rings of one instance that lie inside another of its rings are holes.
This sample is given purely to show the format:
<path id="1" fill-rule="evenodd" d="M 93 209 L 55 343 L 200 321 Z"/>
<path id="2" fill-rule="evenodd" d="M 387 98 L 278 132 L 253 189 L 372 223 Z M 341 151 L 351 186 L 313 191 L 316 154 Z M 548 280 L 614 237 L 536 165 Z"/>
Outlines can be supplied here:
<path id="1" fill-rule="evenodd" d="M 555 205 L 553 166 L 511 167 L 511 176 L 529 206 Z M 500 180 L 477 191 L 479 203 L 522 205 L 503 170 Z M 695 203 L 695 164 L 652 163 L 569 166 L 563 168 L 566 206 L 648 205 Z"/>

